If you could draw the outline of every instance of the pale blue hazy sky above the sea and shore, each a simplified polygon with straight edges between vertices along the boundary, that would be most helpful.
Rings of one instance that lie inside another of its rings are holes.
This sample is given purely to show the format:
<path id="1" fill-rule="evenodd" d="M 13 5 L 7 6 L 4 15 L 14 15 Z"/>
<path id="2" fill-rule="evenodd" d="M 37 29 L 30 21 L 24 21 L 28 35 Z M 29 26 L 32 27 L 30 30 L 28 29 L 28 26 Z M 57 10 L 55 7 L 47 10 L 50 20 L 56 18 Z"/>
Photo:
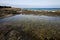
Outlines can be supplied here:
<path id="1" fill-rule="evenodd" d="M 0 0 L 0 5 L 21 8 L 60 8 L 60 0 Z"/>

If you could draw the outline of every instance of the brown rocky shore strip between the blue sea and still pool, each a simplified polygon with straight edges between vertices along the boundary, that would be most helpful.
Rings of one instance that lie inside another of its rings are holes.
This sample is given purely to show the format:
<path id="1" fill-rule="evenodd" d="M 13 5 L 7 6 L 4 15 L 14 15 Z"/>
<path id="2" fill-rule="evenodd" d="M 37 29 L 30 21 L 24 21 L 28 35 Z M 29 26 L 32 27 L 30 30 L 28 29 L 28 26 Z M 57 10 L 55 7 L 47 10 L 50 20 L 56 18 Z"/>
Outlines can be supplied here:
<path id="1" fill-rule="evenodd" d="M 48 15 L 48 16 L 60 16 L 60 10 L 27 10 L 22 8 L 12 7 L 1 7 L 0 6 L 0 17 L 6 16 L 7 14 L 34 14 L 34 15 Z"/>

